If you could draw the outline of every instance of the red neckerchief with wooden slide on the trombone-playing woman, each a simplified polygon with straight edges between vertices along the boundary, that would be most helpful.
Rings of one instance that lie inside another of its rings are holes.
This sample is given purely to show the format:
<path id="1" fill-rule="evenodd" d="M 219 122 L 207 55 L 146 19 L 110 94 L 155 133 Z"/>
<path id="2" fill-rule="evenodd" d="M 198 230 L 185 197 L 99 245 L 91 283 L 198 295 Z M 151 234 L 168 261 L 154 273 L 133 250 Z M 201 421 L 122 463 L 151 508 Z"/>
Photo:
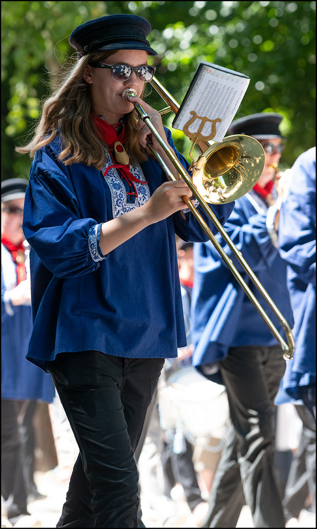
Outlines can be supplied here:
<path id="1" fill-rule="evenodd" d="M 122 163 L 122 160 L 129 160 L 128 154 L 126 154 L 125 149 L 123 147 L 123 143 L 125 141 L 124 137 L 124 127 L 120 131 L 119 135 L 117 135 L 114 127 L 117 125 L 120 125 L 121 123 L 117 123 L 116 125 L 109 125 L 106 121 L 104 121 L 101 117 L 97 115 L 93 115 L 94 122 L 98 127 L 98 131 L 100 132 L 99 137 L 110 147 L 115 154 L 116 162 L 112 165 L 108 166 L 104 172 L 104 176 L 106 176 L 109 169 L 114 167 L 117 169 L 121 175 L 121 178 L 125 179 L 129 187 L 131 188 L 131 184 L 134 188 L 135 196 L 138 198 L 138 191 L 137 188 L 134 185 L 134 182 L 137 182 L 138 184 L 147 184 L 147 182 L 143 182 L 142 180 L 139 180 L 138 178 L 135 178 L 135 176 L 132 175 L 130 171 L 130 164 L 128 163 Z M 113 154 L 110 152 L 110 156 L 114 162 Z M 120 163 L 121 162 L 121 163 Z M 128 195 L 133 195 L 132 193 L 128 193 Z"/>

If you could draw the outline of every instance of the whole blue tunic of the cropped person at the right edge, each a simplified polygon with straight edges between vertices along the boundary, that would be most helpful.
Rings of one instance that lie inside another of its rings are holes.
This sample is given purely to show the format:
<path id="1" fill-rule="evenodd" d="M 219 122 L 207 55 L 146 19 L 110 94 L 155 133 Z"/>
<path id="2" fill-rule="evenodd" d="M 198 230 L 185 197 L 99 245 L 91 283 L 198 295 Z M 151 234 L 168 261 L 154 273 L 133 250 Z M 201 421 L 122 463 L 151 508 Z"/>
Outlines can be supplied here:
<path id="1" fill-rule="evenodd" d="M 278 243 L 287 263 L 295 325 L 294 360 L 287 362 L 281 389 L 301 398 L 301 386 L 316 382 L 316 153 L 301 154 L 289 171 L 280 208 Z M 279 393 L 277 404 L 282 403 Z"/>

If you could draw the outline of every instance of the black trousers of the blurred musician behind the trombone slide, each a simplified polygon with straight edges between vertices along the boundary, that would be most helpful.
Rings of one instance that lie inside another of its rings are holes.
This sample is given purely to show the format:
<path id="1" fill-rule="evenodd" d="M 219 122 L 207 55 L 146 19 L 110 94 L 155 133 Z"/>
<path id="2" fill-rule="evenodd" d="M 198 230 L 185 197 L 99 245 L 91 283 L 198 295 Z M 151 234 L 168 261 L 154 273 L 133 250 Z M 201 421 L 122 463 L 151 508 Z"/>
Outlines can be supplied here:
<path id="1" fill-rule="evenodd" d="M 243 505 L 255 527 L 285 527 L 274 469 L 273 411 L 285 371 L 277 346 L 230 348 L 220 362 L 233 424 L 202 527 L 236 527 Z"/>

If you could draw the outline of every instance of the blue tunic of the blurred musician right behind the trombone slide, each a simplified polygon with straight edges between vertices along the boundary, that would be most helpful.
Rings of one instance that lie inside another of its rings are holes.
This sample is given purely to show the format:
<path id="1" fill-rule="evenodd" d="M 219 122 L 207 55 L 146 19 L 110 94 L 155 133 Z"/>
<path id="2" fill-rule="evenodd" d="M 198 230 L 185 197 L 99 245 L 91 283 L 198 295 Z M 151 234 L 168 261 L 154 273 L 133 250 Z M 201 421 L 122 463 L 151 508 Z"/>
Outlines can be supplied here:
<path id="1" fill-rule="evenodd" d="M 264 200 L 251 190 L 236 201 L 224 229 L 286 321 L 289 325 L 293 325 L 286 286 L 286 265 L 270 240 L 266 220 L 267 206 Z M 216 235 L 216 239 L 273 321 L 278 332 L 284 336 L 282 325 L 268 308 L 221 235 Z M 193 364 L 198 369 L 200 366 L 205 366 L 204 373 L 210 375 L 212 380 L 221 382 L 218 361 L 227 357 L 230 347 L 272 346 L 277 342 L 210 241 L 194 244 L 194 268 Z"/>

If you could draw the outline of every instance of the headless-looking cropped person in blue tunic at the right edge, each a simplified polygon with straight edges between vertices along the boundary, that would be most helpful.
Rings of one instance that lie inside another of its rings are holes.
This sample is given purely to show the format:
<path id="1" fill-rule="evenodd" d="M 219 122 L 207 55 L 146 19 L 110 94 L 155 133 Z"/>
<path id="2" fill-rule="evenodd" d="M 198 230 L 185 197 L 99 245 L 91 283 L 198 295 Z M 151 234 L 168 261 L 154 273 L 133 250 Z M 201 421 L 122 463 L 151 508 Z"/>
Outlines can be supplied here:
<path id="1" fill-rule="evenodd" d="M 283 499 L 285 518 L 298 522 L 309 494 L 315 510 L 316 464 L 316 151 L 288 171 L 278 223 L 279 253 L 287 263 L 294 313 L 294 361 L 287 363 L 276 404 L 293 402 L 303 421 Z M 292 526 L 292 525 L 286 525 Z M 294 526 L 294 525 L 293 525 Z"/>

